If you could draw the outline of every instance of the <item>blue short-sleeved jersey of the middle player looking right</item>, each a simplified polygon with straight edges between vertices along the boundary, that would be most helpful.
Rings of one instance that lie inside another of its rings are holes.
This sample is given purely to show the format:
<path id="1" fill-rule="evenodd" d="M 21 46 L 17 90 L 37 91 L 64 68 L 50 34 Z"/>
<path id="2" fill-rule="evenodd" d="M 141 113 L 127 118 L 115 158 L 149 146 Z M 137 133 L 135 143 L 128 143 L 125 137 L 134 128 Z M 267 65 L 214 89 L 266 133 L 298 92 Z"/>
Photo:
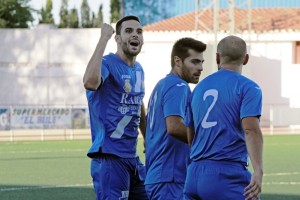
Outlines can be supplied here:
<path id="1" fill-rule="evenodd" d="M 189 146 L 167 133 L 165 118 L 184 118 L 191 91 L 187 82 L 168 74 L 155 86 L 148 104 L 145 184 L 184 183 Z"/>

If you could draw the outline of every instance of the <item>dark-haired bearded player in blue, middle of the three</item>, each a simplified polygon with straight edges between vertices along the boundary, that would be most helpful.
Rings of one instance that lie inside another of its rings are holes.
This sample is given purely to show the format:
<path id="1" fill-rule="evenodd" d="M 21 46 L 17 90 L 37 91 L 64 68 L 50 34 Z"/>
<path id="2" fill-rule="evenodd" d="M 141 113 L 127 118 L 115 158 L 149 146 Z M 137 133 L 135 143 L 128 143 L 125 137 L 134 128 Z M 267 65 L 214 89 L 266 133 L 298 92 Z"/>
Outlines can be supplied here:
<path id="1" fill-rule="evenodd" d="M 148 104 L 146 128 L 146 191 L 149 199 L 183 198 L 189 161 L 184 115 L 189 83 L 198 83 L 206 44 L 192 38 L 175 42 L 171 71 L 155 86 Z"/>

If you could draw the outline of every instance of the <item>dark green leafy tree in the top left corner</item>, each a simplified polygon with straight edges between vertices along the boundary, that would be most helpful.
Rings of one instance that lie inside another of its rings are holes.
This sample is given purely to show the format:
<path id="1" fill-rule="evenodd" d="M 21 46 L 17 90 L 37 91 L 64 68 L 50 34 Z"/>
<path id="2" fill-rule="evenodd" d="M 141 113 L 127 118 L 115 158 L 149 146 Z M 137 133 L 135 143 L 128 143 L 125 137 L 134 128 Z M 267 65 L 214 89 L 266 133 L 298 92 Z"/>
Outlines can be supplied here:
<path id="1" fill-rule="evenodd" d="M 0 28 L 28 28 L 33 22 L 29 0 L 1 0 Z"/>

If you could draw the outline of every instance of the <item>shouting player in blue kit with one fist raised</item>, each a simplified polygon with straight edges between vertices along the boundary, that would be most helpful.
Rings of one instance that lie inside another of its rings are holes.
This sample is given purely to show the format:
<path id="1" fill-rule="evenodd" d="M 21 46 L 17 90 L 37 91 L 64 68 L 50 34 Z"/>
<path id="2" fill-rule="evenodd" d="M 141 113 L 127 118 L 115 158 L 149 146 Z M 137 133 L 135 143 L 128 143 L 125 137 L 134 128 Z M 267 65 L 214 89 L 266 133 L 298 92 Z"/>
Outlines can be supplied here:
<path id="1" fill-rule="evenodd" d="M 83 82 L 92 146 L 88 151 L 98 200 L 147 199 L 145 168 L 136 153 L 138 128 L 145 134 L 144 71 L 136 61 L 144 43 L 135 16 L 116 24 L 117 52 L 103 56 L 115 30 L 103 24 Z"/>

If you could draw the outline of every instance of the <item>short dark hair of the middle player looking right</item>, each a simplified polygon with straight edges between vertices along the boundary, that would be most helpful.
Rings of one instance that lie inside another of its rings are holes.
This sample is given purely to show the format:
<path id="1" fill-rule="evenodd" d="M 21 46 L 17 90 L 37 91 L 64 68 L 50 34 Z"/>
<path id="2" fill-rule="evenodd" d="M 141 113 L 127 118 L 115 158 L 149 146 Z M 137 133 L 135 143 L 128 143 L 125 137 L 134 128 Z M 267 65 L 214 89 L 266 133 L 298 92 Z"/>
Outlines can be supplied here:
<path id="1" fill-rule="evenodd" d="M 181 38 L 175 42 L 173 45 L 171 53 L 171 66 L 175 66 L 174 57 L 178 56 L 182 61 L 190 56 L 189 49 L 195 50 L 197 52 L 204 52 L 206 50 L 206 44 L 199 40 L 193 38 Z"/>

